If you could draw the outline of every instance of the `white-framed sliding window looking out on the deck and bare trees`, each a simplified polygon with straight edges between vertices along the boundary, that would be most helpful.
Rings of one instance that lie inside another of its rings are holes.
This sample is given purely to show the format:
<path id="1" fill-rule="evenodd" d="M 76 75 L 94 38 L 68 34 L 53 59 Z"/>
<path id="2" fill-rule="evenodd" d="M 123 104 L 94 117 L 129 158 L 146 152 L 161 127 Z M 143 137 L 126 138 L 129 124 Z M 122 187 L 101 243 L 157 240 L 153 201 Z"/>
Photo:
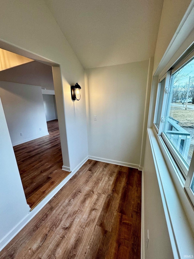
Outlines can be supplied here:
<path id="1" fill-rule="evenodd" d="M 194 205 L 194 53 L 160 78 L 154 126 L 186 179 Z"/>

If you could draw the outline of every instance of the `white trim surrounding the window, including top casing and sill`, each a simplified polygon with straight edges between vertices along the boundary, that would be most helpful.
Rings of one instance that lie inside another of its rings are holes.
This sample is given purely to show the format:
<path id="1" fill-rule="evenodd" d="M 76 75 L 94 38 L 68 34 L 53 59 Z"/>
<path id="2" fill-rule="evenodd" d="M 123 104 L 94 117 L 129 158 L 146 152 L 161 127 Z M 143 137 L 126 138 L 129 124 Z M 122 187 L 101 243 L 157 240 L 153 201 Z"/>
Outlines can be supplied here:
<path id="1" fill-rule="evenodd" d="M 153 127 L 157 78 L 168 71 L 194 42 L 194 0 L 191 1 L 157 68 L 154 66 L 149 105 L 148 138 L 154 159 L 173 258 L 193 255 L 193 206 L 184 189 L 184 178 L 172 155 Z M 153 129 L 152 129 L 153 127 Z M 148 161 L 149 162 L 149 161 Z M 146 194 L 145 194 L 146 195 Z"/>

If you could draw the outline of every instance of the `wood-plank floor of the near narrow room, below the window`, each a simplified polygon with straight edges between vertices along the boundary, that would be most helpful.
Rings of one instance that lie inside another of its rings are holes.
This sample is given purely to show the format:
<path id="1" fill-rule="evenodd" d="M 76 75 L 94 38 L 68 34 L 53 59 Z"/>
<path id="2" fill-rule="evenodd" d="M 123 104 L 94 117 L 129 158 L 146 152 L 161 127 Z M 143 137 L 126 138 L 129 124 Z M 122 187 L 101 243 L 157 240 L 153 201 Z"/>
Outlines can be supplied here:
<path id="1" fill-rule="evenodd" d="M 0 258 L 140 259 L 141 172 L 88 160 Z"/>

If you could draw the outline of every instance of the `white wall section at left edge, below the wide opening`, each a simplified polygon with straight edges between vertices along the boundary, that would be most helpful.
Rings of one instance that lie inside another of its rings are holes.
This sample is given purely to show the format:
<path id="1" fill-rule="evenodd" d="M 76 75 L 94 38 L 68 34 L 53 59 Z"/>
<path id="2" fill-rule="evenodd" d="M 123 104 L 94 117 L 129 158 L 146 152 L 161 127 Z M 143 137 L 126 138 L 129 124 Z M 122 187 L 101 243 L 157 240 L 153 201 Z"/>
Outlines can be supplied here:
<path id="1" fill-rule="evenodd" d="M 28 214 L 18 165 L 0 99 L 0 242 Z M 3 152 L 2 152 L 3 150 Z"/>

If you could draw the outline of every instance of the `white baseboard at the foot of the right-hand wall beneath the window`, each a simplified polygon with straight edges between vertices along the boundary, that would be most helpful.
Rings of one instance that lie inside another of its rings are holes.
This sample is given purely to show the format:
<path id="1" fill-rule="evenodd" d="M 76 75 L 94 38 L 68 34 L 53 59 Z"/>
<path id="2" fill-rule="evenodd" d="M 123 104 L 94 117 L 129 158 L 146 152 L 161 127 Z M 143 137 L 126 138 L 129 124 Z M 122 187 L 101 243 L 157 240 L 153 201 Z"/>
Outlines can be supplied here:
<path id="1" fill-rule="evenodd" d="M 145 259 L 145 240 L 144 240 L 144 171 L 142 168 L 142 220 L 141 220 L 141 259 Z"/>

